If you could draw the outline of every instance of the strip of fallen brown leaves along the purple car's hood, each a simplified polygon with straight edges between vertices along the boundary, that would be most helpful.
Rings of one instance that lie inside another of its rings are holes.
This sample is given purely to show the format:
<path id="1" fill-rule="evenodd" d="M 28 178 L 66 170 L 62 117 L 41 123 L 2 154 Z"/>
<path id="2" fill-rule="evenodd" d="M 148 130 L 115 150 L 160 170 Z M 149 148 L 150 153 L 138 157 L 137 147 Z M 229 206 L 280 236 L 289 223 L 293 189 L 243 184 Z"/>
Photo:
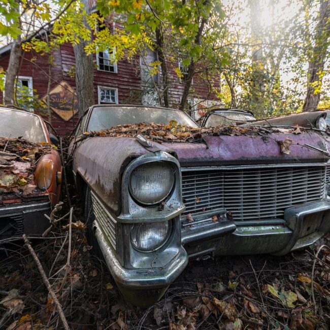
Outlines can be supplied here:
<path id="1" fill-rule="evenodd" d="M 146 139 L 156 142 L 195 142 L 207 136 L 240 136 L 240 135 L 265 135 L 265 133 L 278 132 L 278 129 L 262 128 L 257 126 L 216 126 L 216 127 L 190 127 L 171 120 L 169 124 L 138 123 L 112 126 L 101 131 L 85 132 L 85 136 L 135 138 L 139 134 Z"/>

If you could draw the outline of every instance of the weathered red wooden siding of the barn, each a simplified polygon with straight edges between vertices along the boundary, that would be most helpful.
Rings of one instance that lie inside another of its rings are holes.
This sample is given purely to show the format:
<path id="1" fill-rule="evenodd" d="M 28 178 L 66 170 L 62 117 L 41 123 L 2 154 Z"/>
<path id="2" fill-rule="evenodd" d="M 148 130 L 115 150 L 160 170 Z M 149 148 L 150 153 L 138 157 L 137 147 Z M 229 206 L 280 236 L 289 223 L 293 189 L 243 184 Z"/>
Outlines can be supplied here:
<path id="1" fill-rule="evenodd" d="M 53 52 L 54 61 L 51 70 L 51 89 L 61 81 L 66 81 L 75 89 L 75 56 L 70 44 L 60 46 Z M 7 70 L 9 53 L 0 55 L 0 66 Z M 118 102 L 121 104 L 141 104 L 142 87 L 140 77 L 140 58 L 137 56 L 133 60 L 120 60 L 117 63 L 117 73 L 104 72 L 96 68 L 96 56 L 94 55 L 94 100 L 98 103 L 97 86 L 114 87 L 118 89 Z M 174 69 L 178 63 L 169 66 L 170 105 L 178 108 L 181 100 L 184 84 L 180 82 Z M 40 98 L 47 94 L 48 85 L 48 56 L 40 55 L 33 51 L 24 54 L 22 59 L 19 76 L 32 77 L 33 88 Z M 210 84 L 205 82 L 198 74 L 193 77 L 190 97 L 200 98 L 201 100 L 218 100 L 215 88 L 219 86 L 216 78 L 210 90 Z M 0 103 L 3 103 L 3 95 L 0 93 Z M 85 110 L 85 109 L 84 109 Z M 47 110 L 42 115 L 48 120 Z M 64 121 L 56 113 L 52 112 L 51 122 L 60 136 L 70 134 L 78 121 L 78 114 L 71 120 Z"/>

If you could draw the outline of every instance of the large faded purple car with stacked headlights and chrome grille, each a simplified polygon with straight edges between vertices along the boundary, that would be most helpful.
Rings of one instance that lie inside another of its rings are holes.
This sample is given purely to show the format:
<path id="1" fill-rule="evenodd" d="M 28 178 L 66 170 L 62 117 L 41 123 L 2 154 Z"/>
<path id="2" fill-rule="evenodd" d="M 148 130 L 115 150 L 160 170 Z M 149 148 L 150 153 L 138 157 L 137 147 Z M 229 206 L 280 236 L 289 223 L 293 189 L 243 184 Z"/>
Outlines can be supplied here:
<path id="1" fill-rule="evenodd" d="M 134 304 L 155 303 L 189 258 L 281 255 L 329 232 L 328 141 L 313 129 L 212 130 L 177 110 L 95 105 L 75 133 L 89 235 Z"/>

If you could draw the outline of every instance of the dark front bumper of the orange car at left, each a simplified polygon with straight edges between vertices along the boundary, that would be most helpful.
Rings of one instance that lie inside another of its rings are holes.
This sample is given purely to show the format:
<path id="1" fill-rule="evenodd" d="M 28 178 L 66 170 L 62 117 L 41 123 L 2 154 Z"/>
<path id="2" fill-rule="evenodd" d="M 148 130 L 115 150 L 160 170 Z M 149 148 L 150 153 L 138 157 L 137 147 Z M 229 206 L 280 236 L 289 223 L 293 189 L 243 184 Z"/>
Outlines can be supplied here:
<path id="1" fill-rule="evenodd" d="M 0 207 L 0 240 L 13 236 L 39 235 L 49 227 L 44 216 L 50 202 L 7 204 Z"/>

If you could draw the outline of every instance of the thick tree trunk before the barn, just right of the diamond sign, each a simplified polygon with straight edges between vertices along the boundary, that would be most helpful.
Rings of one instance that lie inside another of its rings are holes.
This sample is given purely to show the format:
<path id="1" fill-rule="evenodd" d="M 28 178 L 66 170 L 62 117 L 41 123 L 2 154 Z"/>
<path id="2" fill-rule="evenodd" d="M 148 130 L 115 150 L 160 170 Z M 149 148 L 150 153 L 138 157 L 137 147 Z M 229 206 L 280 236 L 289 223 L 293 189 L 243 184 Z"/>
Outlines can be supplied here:
<path id="1" fill-rule="evenodd" d="M 85 10 L 88 12 L 88 0 L 83 0 L 82 2 Z M 86 55 L 84 49 L 86 45 L 81 40 L 78 45 L 73 47 L 76 61 L 76 93 L 79 117 L 83 115 L 88 107 L 94 104 L 93 55 Z"/>

